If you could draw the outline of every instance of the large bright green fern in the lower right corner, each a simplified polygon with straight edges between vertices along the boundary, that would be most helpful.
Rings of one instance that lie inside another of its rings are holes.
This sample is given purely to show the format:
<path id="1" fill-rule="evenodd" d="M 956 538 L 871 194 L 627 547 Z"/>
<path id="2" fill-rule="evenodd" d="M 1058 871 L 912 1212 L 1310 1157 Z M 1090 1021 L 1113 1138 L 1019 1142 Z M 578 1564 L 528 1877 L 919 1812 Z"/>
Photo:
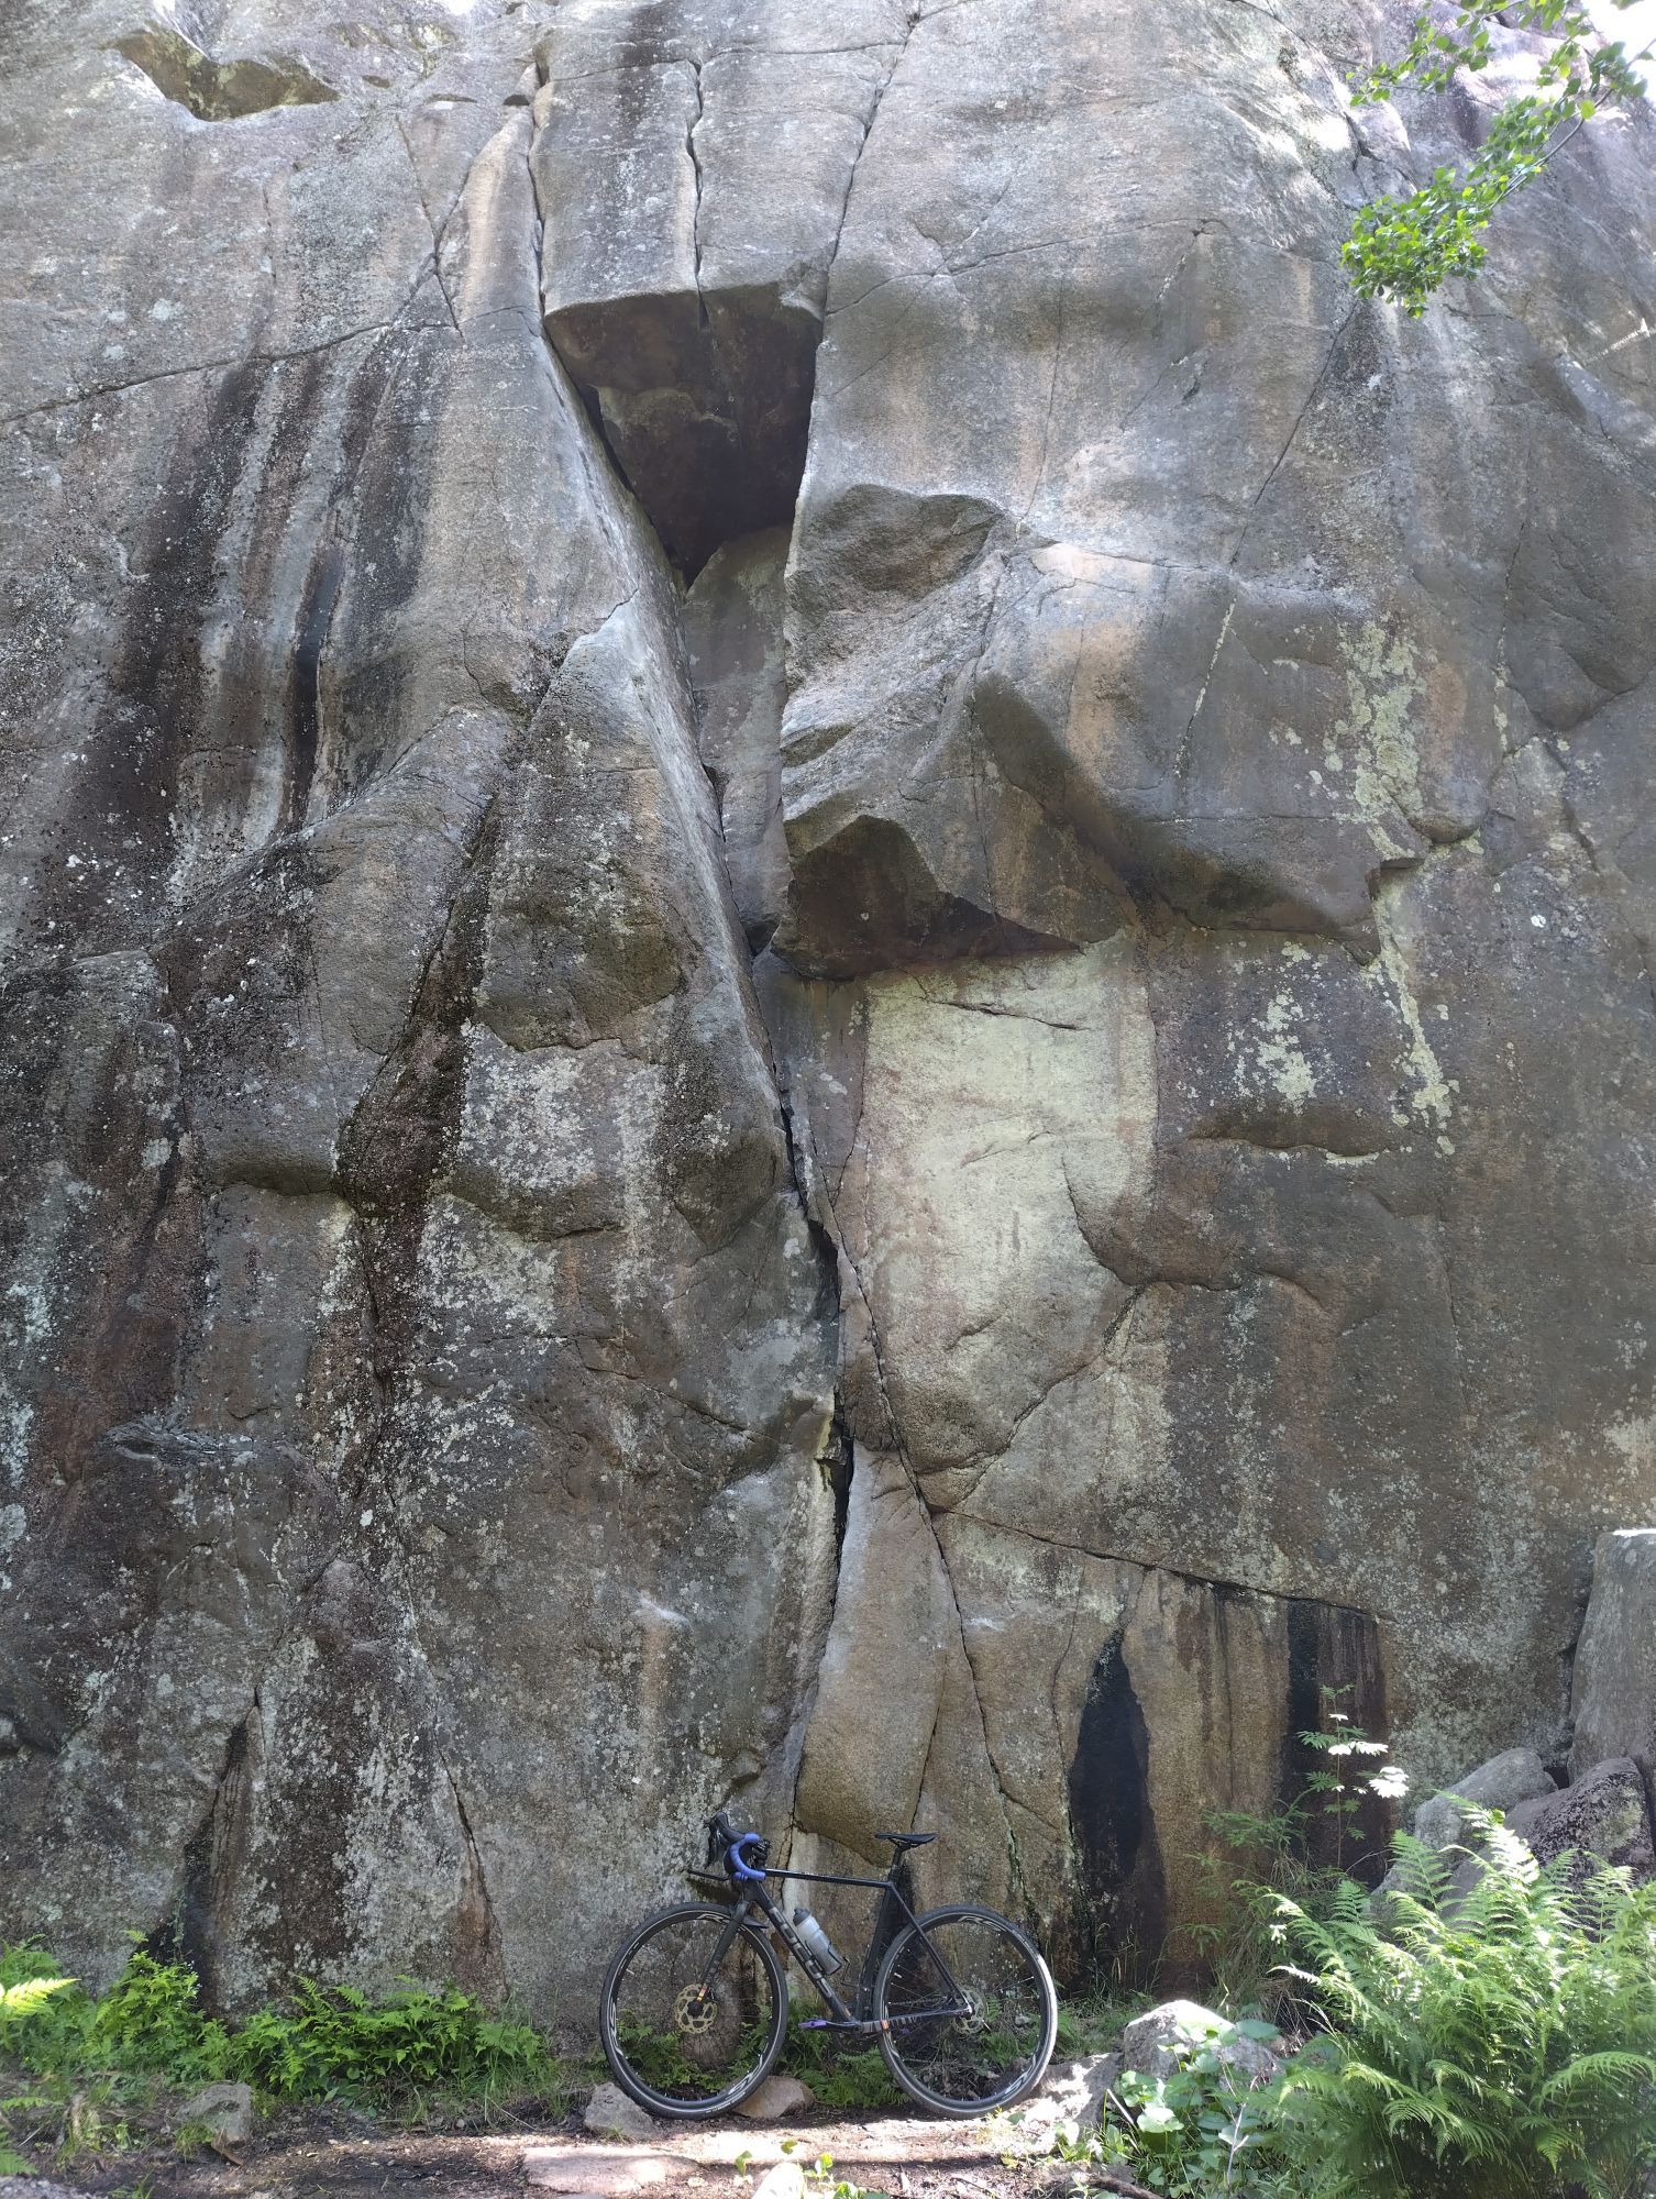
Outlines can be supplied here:
<path id="1" fill-rule="evenodd" d="M 1276 1924 L 1324 2030 L 1271 2113 L 1315 2199 L 1627 2199 L 1656 2129 L 1656 1887 L 1561 1856 L 1498 1814 L 1471 1849 L 1399 1834 L 1377 1913 L 1346 1882 Z"/>

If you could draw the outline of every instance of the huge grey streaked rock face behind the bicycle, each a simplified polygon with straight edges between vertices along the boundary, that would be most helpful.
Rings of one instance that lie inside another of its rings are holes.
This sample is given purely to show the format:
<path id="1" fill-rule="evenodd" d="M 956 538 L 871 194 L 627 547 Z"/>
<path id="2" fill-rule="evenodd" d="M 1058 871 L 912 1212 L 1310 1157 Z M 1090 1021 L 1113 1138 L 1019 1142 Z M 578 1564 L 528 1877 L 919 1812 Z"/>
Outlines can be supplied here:
<path id="1" fill-rule="evenodd" d="M 1405 15 L 9 24 L 0 1931 L 581 2027 L 715 1803 L 1082 1970 L 1324 1687 L 1559 1761 L 1656 145 L 1355 303 Z"/>

